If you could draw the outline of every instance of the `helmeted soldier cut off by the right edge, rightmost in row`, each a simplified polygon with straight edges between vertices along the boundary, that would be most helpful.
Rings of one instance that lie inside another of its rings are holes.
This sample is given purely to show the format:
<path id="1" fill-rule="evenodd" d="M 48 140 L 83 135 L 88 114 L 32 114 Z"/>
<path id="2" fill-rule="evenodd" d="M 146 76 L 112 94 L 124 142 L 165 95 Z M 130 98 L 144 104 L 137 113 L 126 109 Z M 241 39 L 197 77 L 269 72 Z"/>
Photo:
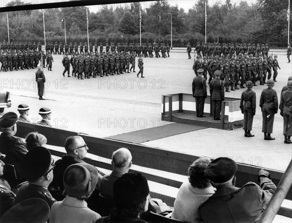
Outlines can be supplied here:
<path id="1" fill-rule="evenodd" d="M 280 114 L 284 118 L 285 144 L 292 144 L 292 80 L 287 83 L 287 90 L 281 93 Z"/>

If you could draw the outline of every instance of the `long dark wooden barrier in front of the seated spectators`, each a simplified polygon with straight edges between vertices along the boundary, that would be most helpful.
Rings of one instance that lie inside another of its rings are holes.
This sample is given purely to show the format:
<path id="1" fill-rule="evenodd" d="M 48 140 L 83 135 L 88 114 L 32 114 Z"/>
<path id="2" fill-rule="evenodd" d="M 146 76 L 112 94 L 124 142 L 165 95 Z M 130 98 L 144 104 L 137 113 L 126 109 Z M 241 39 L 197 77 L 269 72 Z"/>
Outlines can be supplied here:
<path id="1" fill-rule="evenodd" d="M 65 139 L 69 136 L 80 135 L 83 137 L 87 146 L 89 147 L 89 153 L 103 157 L 101 159 L 111 159 L 112 152 L 119 148 L 128 148 L 131 151 L 133 156 L 134 165 L 141 167 L 147 167 L 157 170 L 163 170 L 170 173 L 176 173 L 181 175 L 187 175 L 187 169 L 189 165 L 200 156 L 179 153 L 176 151 L 159 149 L 155 147 L 149 147 L 140 144 L 133 144 L 124 141 L 118 141 L 113 139 L 106 139 L 101 137 L 94 137 L 80 132 L 69 131 L 65 129 L 55 129 L 52 127 L 46 127 L 41 125 L 36 125 L 33 123 L 18 122 L 17 124 L 17 136 L 25 138 L 32 131 L 37 131 L 47 137 L 48 145 L 56 147 L 64 147 Z M 64 152 L 56 151 L 50 149 L 53 155 L 61 157 Z M 243 159 L 242 159 L 243 160 Z M 104 160 L 93 160 L 86 158 L 86 162 L 100 168 L 105 168 L 112 170 L 110 163 L 104 162 Z M 240 157 L 237 158 L 238 170 L 237 170 L 237 181 L 236 186 L 240 187 L 246 184 L 247 182 L 253 181 L 257 182 L 258 171 L 262 167 L 251 166 L 248 164 L 240 163 Z M 176 179 L 169 179 L 167 177 L 158 176 L 155 174 L 155 171 L 141 172 L 147 177 L 148 180 L 157 182 L 166 186 L 172 186 L 179 188 L 182 185 L 182 182 Z M 274 169 L 268 169 L 271 173 L 271 179 L 277 185 L 279 180 L 283 175 L 283 171 L 278 171 Z M 162 195 L 162 197 L 164 197 Z M 165 198 L 164 198 L 165 199 Z M 292 191 L 290 188 L 289 193 L 286 196 L 286 199 L 292 200 Z M 174 200 L 168 200 L 168 204 L 173 204 Z M 289 215 L 292 218 L 291 210 L 280 209 L 285 215 Z M 280 212 L 279 211 L 279 212 Z"/>

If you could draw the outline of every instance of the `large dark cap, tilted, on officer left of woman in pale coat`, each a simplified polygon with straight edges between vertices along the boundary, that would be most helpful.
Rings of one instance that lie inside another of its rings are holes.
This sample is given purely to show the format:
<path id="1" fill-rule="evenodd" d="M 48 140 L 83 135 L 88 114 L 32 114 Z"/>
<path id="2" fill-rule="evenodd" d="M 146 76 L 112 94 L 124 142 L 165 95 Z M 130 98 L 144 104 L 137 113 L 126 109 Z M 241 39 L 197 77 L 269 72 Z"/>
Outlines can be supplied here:
<path id="1" fill-rule="evenodd" d="M 20 174 L 27 180 L 37 180 L 50 168 L 51 153 L 44 147 L 35 147 L 29 150 L 20 163 Z"/>

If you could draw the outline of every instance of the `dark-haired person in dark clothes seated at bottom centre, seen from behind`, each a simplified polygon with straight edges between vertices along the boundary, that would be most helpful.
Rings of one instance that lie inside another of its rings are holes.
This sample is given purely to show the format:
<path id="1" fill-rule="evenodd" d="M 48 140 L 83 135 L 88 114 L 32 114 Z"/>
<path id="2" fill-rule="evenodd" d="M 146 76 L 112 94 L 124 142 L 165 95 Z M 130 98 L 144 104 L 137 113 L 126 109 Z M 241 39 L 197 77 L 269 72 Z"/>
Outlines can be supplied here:
<path id="1" fill-rule="evenodd" d="M 149 186 L 146 177 L 140 173 L 125 173 L 113 184 L 114 208 L 108 217 L 100 218 L 96 223 L 137 222 L 140 213 L 148 207 Z"/>

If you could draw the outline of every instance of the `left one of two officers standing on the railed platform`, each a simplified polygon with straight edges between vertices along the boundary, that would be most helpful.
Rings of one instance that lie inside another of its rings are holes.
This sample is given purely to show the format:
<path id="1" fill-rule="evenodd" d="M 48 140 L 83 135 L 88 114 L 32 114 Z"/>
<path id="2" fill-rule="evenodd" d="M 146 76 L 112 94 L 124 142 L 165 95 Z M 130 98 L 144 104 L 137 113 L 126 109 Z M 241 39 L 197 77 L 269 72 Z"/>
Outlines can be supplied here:
<path id="1" fill-rule="evenodd" d="M 204 105 L 205 98 L 207 98 L 207 84 L 206 79 L 203 77 L 203 69 L 198 70 L 198 76 L 193 79 L 192 89 L 193 97 L 196 99 L 196 113 L 197 117 L 205 117 Z"/>

